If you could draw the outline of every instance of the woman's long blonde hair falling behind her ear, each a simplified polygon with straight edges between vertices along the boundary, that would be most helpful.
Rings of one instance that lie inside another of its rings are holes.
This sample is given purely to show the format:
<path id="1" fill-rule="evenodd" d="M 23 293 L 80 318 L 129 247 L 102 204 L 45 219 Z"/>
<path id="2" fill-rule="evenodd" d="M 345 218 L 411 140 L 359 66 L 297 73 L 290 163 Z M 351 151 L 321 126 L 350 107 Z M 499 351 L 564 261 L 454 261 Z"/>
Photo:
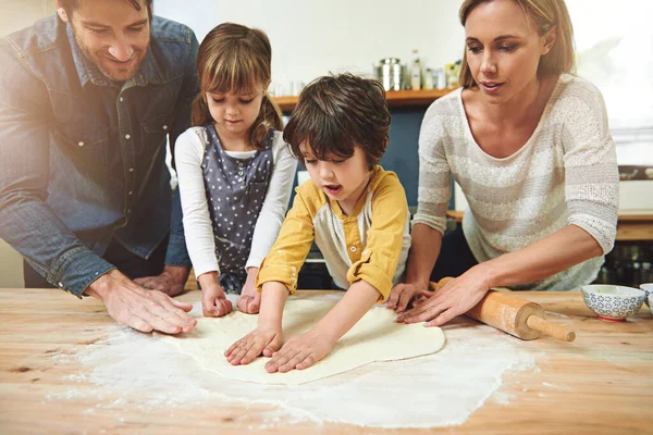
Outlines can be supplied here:
<path id="1" fill-rule="evenodd" d="M 493 0 L 465 0 L 458 12 L 460 24 L 465 26 L 470 12 L 479 4 Z M 575 70 L 574 27 L 565 0 L 513 0 L 521 7 L 527 18 L 538 26 L 538 35 L 545 35 L 555 27 L 555 42 L 551 50 L 540 58 L 538 76 L 559 75 Z M 467 63 L 467 49 L 463 55 L 459 76 L 460 86 L 465 88 L 478 86 Z"/>

